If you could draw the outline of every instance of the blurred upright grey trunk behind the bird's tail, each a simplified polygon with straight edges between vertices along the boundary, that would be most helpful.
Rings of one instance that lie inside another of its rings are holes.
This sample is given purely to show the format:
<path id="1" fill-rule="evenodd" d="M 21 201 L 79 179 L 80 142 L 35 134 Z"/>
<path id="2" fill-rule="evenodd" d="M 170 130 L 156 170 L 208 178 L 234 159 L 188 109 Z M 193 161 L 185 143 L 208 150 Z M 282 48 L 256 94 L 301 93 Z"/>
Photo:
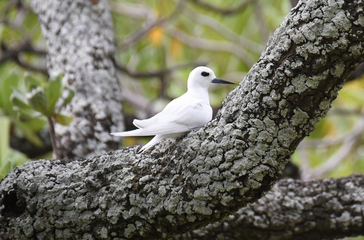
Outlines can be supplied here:
<path id="1" fill-rule="evenodd" d="M 114 33 L 106 0 L 32 0 L 46 38 L 48 72 L 60 69 L 76 92 L 56 124 L 62 158 L 87 158 L 118 149 L 110 132 L 123 129 L 122 98 L 114 66 Z"/>

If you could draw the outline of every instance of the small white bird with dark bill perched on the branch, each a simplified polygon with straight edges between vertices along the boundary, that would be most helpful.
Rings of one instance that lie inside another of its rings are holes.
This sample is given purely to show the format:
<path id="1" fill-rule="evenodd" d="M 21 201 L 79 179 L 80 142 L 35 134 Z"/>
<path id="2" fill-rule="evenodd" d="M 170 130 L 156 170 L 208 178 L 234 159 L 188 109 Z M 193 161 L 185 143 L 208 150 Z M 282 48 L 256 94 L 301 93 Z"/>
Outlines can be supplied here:
<path id="1" fill-rule="evenodd" d="M 212 119 L 209 88 L 217 83 L 235 84 L 218 79 L 210 68 L 197 67 L 188 76 L 187 92 L 172 100 L 162 112 L 149 119 L 134 119 L 133 124 L 139 129 L 111 134 L 115 136 L 155 135 L 138 152 L 143 153 L 162 139 L 175 141 L 187 132 L 198 130 Z"/>

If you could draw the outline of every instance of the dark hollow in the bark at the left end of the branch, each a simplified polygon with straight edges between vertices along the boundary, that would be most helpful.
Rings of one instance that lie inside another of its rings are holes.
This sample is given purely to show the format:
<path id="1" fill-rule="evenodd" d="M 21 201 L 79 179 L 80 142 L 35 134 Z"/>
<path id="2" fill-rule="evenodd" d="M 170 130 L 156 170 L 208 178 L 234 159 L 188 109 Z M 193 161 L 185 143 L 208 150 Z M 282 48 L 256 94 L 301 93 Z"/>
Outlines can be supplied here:
<path id="1" fill-rule="evenodd" d="M 4 194 L 3 204 L 3 216 L 5 218 L 19 217 L 25 210 L 25 202 L 24 200 L 18 199 L 15 189 Z"/>

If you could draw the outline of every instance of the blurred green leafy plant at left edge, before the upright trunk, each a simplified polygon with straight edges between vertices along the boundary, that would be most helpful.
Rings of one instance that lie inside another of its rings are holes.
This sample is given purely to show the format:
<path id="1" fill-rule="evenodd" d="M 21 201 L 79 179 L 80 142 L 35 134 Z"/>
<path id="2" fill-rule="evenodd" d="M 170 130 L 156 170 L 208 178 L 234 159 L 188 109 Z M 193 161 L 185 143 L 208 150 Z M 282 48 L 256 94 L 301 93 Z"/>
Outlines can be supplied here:
<path id="1" fill-rule="evenodd" d="M 75 93 L 63 84 L 62 73 L 52 75 L 48 81 L 28 72 L 25 72 L 24 77 L 15 72 L 1 73 L 0 178 L 3 178 L 13 168 L 29 160 L 24 153 L 11 148 L 11 130 L 15 135 L 24 136 L 33 145 L 41 147 L 43 142 L 36 133 L 48 127 L 49 118 L 62 125 L 72 121 L 71 116 L 59 114 L 56 109 L 70 103 Z M 62 94 L 64 97 L 61 99 Z"/>

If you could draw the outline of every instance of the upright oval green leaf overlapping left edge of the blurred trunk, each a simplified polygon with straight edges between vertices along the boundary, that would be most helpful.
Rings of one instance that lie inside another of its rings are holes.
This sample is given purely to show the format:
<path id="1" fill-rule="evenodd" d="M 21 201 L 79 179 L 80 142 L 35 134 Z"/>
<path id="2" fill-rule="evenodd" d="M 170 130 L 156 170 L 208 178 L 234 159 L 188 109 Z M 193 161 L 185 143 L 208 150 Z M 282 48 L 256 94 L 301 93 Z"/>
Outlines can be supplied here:
<path id="1" fill-rule="evenodd" d="M 53 113 L 55 110 L 55 105 L 58 101 L 58 99 L 60 98 L 60 96 L 62 96 L 62 78 L 63 78 L 63 74 L 60 73 L 56 76 L 51 75 L 50 78 L 48 79 L 48 83 L 45 89 L 46 92 L 46 96 L 47 96 L 47 100 L 48 100 L 48 104 L 47 104 L 47 109 L 48 112 Z"/>

